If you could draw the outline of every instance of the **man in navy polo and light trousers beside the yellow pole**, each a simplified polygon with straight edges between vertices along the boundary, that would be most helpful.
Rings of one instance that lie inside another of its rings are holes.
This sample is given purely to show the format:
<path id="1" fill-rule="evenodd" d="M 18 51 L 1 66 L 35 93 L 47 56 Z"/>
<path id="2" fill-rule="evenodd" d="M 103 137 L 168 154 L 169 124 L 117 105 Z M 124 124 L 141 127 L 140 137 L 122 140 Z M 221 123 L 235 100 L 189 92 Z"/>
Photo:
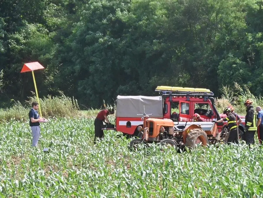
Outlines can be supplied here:
<path id="1" fill-rule="evenodd" d="M 42 119 L 39 114 L 37 113 L 38 110 L 38 103 L 33 102 L 32 103 L 32 109 L 29 112 L 29 126 L 32 131 L 32 147 L 37 146 L 37 142 L 39 140 L 40 136 L 40 123 L 39 121 Z"/>

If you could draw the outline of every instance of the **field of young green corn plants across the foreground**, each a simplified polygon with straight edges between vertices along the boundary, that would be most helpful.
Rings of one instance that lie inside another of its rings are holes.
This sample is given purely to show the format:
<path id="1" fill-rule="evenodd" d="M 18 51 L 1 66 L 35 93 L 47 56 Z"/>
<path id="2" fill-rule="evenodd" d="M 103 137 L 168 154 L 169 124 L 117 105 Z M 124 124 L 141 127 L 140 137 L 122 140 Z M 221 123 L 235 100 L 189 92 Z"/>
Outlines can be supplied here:
<path id="1" fill-rule="evenodd" d="M 105 131 L 104 140 L 94 145 L 93 122 L 59 118 L 41 123 L 37 148 L 31 147 L 28 123 L 1 123 L 0 196 L 263 196 L 259 145 L 250 150 L 246 145 L 210 145 L 178 154 L 152 144 L 131 152 L 131 140 L 115 131 Z"/>

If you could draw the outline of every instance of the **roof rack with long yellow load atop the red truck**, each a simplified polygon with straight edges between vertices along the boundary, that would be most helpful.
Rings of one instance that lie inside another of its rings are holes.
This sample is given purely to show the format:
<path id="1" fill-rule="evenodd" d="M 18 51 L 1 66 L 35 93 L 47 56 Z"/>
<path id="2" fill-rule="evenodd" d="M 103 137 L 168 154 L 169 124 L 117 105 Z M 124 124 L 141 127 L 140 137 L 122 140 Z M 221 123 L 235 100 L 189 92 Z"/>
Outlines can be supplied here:
<path id="1" fill-rule="evenodd" d="M 189 87 L 171 87 L 171 86 L 157 86 L 155 91 L 158 91 L 161 95 L 169 96 L 201 96 L 205 100 L 209 96 L 214 96 L 214 93 L 205 88 L 189 88 Z"/>

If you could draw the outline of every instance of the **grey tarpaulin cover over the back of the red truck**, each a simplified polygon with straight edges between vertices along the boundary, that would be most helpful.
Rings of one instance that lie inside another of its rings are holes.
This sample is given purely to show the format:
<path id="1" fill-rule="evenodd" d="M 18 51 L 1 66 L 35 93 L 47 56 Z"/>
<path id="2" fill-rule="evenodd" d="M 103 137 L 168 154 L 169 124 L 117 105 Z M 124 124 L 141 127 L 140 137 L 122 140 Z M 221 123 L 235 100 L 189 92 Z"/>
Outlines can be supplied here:
<path id="1" fill-rule="evenodd" d="M 146 114 L 152 118 L 163 117 L 162 96 L 117 96 L 116 117 L 142 117 L 143 105 Z"/>

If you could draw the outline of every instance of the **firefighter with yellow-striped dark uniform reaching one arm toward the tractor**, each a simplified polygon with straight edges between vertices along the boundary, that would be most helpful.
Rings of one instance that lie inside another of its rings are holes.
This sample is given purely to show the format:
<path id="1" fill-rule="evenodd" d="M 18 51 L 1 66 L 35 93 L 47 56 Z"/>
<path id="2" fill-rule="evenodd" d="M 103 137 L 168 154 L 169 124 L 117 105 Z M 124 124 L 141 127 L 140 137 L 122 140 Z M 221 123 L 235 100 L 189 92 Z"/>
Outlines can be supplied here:
<path id="1" fill-rule="evenodd" d="M 226 107 L 223 113 L 226 114 L 227 117 L 220 119 L 218 121 L 212 121 L 212 122 L 218 123 L 218 122 L 227 121 L 228 127 L 229 127 L 229 137 L 227 139 L 227 143 L 237 143 L 238 144 L 236 116 L 233 113 L 231 113 L 231 109 L 229 107 Z"/>

